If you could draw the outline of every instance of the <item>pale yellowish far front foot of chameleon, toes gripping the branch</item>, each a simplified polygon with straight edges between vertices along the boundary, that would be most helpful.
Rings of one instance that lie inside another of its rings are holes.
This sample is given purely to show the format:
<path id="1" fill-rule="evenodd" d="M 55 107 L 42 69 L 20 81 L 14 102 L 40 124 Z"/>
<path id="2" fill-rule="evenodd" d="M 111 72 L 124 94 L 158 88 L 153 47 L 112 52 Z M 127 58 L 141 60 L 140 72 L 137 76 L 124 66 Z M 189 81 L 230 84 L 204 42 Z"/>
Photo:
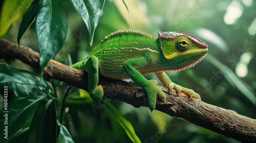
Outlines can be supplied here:
<path id="1" fill-rule="evenodd" d="M 172 89 L 176 89 L 178 91 L 178 94 L 180 94 L 180 92 L 187 94 L 189 96 L 189 100 L 192 98 L 195 98 L 201 101 L 201 97 L 194 90 L 182 87 L 173 82 L 169 84 L 168 89 L 169 89 L 169 93 L 170 91 L 172 91 Z"/>

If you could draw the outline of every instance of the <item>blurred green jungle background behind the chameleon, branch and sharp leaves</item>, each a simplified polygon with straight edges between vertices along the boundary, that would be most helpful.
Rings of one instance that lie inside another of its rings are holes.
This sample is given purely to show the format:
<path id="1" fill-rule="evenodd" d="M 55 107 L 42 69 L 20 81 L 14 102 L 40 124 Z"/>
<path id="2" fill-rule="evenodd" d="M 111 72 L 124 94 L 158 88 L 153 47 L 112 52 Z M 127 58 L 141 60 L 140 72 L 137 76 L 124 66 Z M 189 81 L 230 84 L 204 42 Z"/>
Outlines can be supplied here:
<path id="1" fill-rule="evenodd" d="M 69 34 L 55 60 L 64 63 L 68 58 L 73 63 L 82 60 L 104 36 L 119 29 L 141 30 L 153 36 L 158 31 L 190 33 L 208 44 L 209 54 L 193 68 L 168 72 L 170 79 L 195 90 L 206 103 L 256 118 L 255 1 L 126 0 L 129 14 L 121 0 L 109 0 L 105 2 L 92 46 L 80 15 L 68 1 L 62 2 Z M 20 21 L 13 23 L 3 38 L 16 43 Z M 34 24 L 24 34 L 21 44 L 38 51 Z M 37 72 L 19 60 L 13 66 Z M 145 77 L 157 79 L 154 74 Z M 65 91 L 66 88 L 60 88 L 59 95 L 63 96 Z M 67 99 L 64 119 L 75 142 L 131 142 L 118 122 L 104 110 L 94 114 L 91 100 L 73 102 L 72 96 L 79 93 L 84 91 L 75 91 Z M 134 108 L 120 101 L 111 103 L 132 123 L 142 142 L 238 142 L 182 118 L 159 111 L 150 113 L 146 107 Z"/>

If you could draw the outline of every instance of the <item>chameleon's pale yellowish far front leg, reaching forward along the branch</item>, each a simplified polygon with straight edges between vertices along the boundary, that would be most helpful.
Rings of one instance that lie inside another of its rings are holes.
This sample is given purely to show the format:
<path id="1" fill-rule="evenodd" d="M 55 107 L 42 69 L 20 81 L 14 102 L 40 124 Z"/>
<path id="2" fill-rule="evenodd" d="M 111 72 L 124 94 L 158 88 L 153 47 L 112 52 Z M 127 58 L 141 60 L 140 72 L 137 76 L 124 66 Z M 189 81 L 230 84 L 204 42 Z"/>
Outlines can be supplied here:
<path id="1" fill-rule="evenodd" d="M 157 78 L 164 84 L 164 86 L 166 86 L 166 88 L 169 89 L 169 92 L 172 91 L 172 89 L 176 89 L 178 91 L 178 94 L 182 91 L 183 93 L 189 95 L 189 100 L 191 98 L 195 98 L 201 101 L 201 98 L 199 96 L 198 93 L 196 93 L 194 90 L 192 89 L 188 89 L 185 87 L 182 87 L 178 84 L 175 84 L 174 82 L 172 82 L 169 77 L 164 73 L 164 72 L 159 72 L 159 73 L 155 73 Z"/>

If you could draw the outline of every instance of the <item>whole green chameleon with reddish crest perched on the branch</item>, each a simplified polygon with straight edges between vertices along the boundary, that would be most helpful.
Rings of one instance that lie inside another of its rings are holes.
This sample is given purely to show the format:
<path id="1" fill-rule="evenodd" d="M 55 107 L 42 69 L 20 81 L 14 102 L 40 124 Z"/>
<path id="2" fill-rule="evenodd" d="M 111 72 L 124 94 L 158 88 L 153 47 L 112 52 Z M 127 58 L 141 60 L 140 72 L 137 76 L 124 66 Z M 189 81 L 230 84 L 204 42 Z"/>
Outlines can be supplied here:
<path id="1" fill-rule="evenodd" d="M 208 45 L 197 37 L 182 32 L 158 32 L 158 38 L 138 30 L 118 30 L 105 36 L 89 56 L 72 65 L 89 74 L 89 94 L 94 102 L 103 97 L 98 85 L 99 75 L 112 79 L 131 78 L 147 95 L 148 107 L 153 111 L 159 96 L 166 102 L 165 93 L 156 80 L 143 74 L 155 73 L 166 88 L 182 91 L 201 100 L 198 93 L 173 83 L 164 71 L 180 71 L 195 66 L 207 54 Z"/>

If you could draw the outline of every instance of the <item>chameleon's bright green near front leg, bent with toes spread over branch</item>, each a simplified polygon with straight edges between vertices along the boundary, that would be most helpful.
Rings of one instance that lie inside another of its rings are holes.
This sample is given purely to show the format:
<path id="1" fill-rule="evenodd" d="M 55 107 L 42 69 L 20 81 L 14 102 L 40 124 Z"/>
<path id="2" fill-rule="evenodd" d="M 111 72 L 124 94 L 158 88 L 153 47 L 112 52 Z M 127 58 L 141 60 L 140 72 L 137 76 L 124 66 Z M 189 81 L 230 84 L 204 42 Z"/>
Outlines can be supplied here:
<path id="1" fill-rule="evenodd" d="M 125 73 L 140 87 L 142 87 L 147 95 L 148 108 L 153 111 L 156 107 L 156 99 L 159 96 L 164 102 L 166 102 L 165 93 L 157 86 L 156 80 L 147 80 L 141 73 L 136 69 L 149 65 L 150 62 L 146 58 L 136 58 L 127 60 L 123 63 L 123 69 Z"/>

